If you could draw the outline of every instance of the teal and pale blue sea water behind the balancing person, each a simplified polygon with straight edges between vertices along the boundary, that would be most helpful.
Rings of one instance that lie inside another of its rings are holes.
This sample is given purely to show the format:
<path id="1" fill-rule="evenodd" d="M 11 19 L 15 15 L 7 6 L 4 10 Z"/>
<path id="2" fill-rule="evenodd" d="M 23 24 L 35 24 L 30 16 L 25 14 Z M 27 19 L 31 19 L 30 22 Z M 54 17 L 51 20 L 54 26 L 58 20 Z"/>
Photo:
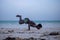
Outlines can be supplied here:
<path id="1" fill-rule="evenodd" d="M 34 21 L 42 24 L 43 28 L 60 28 L 60 21 Z M 0 28 L 28 28 L 27 24 L 19 24 L 18 21 L 0 21 Z"/>

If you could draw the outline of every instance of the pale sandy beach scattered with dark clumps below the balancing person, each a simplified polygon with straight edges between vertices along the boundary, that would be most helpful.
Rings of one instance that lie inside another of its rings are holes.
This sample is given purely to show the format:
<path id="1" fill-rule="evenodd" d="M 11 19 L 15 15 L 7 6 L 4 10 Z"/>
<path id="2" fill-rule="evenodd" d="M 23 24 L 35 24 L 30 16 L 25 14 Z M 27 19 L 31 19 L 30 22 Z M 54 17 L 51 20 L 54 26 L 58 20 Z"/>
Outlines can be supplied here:
<path id="1" fill-rule="evenodd" d="M 60 40 L 59 30 L 59 28 L 41 28 L 37 30 L 32 27 L 30 31 L 19 28 L 0 28 L 0 40 L 6 40 L 8 37 L 15 38 L 15 40 Z"/>

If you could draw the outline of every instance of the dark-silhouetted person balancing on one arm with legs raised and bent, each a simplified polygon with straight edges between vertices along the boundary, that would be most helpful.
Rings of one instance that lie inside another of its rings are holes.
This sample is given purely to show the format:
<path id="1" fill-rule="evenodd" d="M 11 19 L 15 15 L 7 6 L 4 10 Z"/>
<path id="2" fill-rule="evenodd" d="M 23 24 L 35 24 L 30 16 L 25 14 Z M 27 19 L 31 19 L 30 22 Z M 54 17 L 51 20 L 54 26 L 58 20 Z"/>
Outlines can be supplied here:
<path id="1" fill-rule="evenodd" d="M 30 27 L 36 27 L 37 29 L 42 28 L 41 24 L 36 25 L 33 21 L 31 21 L 29 18 L 22 19 L 21 15 L 16 15 L 16 17 L 19 17 L 19 24 L 28 24 L 28 30 L 30 30 Z"/>

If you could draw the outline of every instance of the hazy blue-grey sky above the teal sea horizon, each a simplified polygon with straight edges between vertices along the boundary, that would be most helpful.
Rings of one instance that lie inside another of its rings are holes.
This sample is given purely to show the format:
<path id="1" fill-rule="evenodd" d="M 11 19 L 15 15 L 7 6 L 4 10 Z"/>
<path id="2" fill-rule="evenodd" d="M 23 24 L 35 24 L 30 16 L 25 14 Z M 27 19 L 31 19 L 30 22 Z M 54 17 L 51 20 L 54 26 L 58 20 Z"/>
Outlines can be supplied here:
<path id="1" fill-rule="evenodd" d="M 60 0 L 0 0 L 0 20 L 60 20 Z"/>

